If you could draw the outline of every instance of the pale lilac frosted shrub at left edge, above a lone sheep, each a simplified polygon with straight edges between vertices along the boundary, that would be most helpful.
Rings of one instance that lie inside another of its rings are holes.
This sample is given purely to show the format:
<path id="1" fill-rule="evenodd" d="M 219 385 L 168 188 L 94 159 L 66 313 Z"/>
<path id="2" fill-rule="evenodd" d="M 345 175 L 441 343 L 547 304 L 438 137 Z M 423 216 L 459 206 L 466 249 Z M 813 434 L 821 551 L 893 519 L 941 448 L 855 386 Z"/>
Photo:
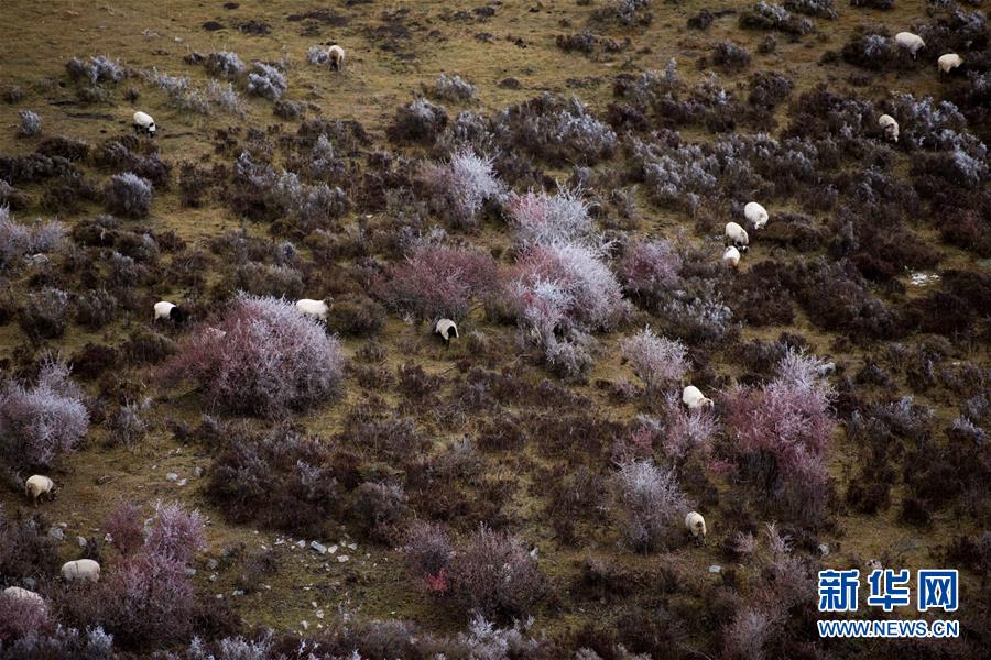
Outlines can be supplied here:
<path id="1" fill-rule="evenodd" d="M 48 360 L 37 382 L 0 391 L 0 455 L 17 465 L 51 465 L 86 436 L 89 414 L 65 363 Z"/>

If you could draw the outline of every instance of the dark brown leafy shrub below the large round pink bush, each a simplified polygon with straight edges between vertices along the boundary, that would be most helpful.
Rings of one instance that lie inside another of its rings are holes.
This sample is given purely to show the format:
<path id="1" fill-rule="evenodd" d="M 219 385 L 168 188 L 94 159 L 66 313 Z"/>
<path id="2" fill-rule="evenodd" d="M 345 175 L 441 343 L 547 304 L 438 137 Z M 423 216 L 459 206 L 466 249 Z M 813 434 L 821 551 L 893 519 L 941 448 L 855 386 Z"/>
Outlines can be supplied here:
<path id="1" fill-rule="evenodd" d="M 210 471 L 210 498 L 233 522 L 318 535 L 337 512 L 330 446 L 285 426 L 261 437 L 231 433 Z"/>

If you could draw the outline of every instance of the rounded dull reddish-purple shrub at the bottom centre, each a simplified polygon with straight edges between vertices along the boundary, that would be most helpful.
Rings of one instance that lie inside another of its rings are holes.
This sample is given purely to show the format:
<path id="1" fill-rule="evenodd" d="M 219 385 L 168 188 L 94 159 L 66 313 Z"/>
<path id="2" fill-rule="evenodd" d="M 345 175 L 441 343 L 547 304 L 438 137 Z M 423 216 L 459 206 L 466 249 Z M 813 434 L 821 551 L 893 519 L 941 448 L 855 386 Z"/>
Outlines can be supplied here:
<path id="1" fill-rule="evenodd" d="M 447 593 L 464 612 L 519 617 L 544 593 L 536 560 L 520 539 L 482 525 L 455 554 Z"/>

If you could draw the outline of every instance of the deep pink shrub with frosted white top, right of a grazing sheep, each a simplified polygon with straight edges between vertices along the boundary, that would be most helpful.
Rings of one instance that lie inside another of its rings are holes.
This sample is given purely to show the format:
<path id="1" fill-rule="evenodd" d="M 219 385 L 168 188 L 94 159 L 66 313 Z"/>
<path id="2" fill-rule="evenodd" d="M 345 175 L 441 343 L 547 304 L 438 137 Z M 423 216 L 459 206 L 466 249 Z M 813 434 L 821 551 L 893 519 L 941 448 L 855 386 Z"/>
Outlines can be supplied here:
<path id="1" fill-rule="evenodd" d="M 741 470 L 783 515 L 816 525 L 828 487 L 831 391 L 820 362 L 789 351 L 763 388 L 736 387 L 726 396 L 727 426 Z"/>

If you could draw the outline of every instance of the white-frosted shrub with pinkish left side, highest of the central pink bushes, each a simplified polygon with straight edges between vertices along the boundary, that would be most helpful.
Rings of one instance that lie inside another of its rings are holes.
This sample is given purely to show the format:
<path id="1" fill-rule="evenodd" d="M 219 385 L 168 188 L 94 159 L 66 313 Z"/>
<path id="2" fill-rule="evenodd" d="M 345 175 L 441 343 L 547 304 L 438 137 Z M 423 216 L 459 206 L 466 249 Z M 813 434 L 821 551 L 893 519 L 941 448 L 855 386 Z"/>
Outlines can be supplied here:
<path id="1" fill-rule="evenodd" d="M 470 148 L 451 154 L 449 163 L 426 165 L 423 177 L 432 195 L 431 207 L 459 227 L 477 224 L 486 201 L 505 191 L 492 169 L 492 158 Z"/>

